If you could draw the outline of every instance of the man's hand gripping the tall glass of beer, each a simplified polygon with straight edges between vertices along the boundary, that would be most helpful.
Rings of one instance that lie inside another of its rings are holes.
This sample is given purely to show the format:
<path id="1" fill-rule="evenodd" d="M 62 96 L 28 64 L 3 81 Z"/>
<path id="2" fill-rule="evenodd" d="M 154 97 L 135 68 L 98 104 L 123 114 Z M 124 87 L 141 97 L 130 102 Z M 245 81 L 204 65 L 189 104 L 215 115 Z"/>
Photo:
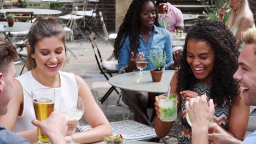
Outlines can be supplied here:
<path id="1" fill-rule="evenodd" d="M 39 127 L 43 135 L 49 137 L 50 140 L 54 136 L 64 137 L 67 131 L 66 119 L 57 109 L 51 112 L 51 115 L 44 121 L 34 119 L 32 124 Z"/>

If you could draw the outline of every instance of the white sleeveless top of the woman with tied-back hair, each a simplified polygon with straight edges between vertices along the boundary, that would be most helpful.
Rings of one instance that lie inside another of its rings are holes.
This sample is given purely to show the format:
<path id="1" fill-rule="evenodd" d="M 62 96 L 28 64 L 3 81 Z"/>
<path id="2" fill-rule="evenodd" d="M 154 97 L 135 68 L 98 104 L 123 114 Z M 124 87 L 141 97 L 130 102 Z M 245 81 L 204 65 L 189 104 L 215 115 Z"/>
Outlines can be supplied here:
<path id="1" fill-rule="evenodd" d="M 59 108 L 60 110 L 66 109 L 68 106 L 69 109 L 73 109 L 77 105 L 77 99 L 75 95 L 78 95 L 77 82 L 75 81 L 74 74 L 65 73 L 59 71 L 61 87 L 53 88 L 55 89 L 55 104 L 54 108 Z M 34 125 L 31 123 L 33 119 L 36 119 L 33 108 L 33 99 L 31 92 L 34 89 L 38 88 L 49 88 L 45 87 L 39 83 L 31 74 L 31 71 L 16 77 L 22 86 L 23 95 L 24 95 L 24 109 L 21 116 L 18 116 L 14 132 L 26 131 L 30 129 L 35 129 Z M 65 103 L 65 101 L 67 103 Z"/>

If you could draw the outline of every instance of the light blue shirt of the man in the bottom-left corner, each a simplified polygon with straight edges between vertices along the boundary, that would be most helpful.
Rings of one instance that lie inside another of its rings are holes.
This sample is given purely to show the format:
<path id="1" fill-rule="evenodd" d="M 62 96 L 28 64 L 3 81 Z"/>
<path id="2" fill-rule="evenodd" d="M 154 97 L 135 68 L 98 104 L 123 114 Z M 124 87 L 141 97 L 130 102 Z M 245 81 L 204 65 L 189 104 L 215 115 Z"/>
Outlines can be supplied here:
<path id="1" fill-rule="evenodd" d="M 19 144 L 28 144 L 27 140 L 23 139 L 21 136 L 14 134 L 12 131 L 6 130 L 2 125 L 0 125 L 0 143 L 19 143 Z"/>

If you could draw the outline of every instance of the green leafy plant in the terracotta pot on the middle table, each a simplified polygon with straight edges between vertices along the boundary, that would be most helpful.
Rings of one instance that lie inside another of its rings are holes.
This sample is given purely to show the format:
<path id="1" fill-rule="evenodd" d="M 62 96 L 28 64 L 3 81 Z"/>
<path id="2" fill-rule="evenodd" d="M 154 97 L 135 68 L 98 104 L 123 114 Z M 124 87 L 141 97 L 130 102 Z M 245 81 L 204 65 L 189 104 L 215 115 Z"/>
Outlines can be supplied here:
<path id="1" fill-rule="evenodd" d="M 148 59 L 150 63 L 155 65 L 156 71 L 162 70 L 166 61 L 166 52 L 150 51 Z"/>

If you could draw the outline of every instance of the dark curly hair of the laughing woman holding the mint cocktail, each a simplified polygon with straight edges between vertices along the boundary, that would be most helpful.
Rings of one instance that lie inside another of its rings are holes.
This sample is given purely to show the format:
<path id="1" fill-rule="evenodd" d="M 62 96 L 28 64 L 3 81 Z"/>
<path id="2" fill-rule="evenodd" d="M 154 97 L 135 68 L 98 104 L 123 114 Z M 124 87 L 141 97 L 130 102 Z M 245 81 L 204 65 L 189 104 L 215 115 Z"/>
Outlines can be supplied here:
<path id="1" fill-rule="evenodd" d="M 191 39 L 205 41 L 214 50 L 210 97 L 218 105 L 223 104 L 224 98 L 235 103 L 240 99 L 237 81 L 232 77 L 238 68 L 236 39 L 224 23 L 214 20 L 199 21 L 189 29 L 181 56 L 181 69 L 177 71 L 177 92 L 191 91 L 198 82 L 187 62 L 187 44 Z"/>

